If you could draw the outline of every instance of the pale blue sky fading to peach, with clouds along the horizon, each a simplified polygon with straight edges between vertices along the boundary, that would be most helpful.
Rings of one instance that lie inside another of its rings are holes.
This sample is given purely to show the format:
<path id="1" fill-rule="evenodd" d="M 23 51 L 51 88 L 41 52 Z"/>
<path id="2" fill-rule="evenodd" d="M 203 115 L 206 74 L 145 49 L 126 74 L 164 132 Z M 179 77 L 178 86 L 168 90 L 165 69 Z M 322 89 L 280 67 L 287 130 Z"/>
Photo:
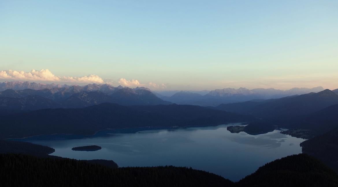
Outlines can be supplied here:
<path id="1" fill-rule="evenodd" d="M 0 0 L 0 81 L 338 88 L 337 0 Z"/>

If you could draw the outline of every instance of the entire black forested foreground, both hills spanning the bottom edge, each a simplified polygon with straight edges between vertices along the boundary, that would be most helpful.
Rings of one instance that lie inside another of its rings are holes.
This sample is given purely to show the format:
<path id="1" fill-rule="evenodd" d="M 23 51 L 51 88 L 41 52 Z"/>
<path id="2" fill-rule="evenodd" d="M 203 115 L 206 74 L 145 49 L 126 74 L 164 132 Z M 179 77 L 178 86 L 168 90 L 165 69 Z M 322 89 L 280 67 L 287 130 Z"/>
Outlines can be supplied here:
<path id="1" fill-rule="evenodd" d="M 186 167 L 122 167 L 111 169 L 86 161 L 0 154 L 1 186 L 125 187 L 334 187 L 337 174 L 315 158 L 292 155 L 272 161 L 237 183 Z"/>

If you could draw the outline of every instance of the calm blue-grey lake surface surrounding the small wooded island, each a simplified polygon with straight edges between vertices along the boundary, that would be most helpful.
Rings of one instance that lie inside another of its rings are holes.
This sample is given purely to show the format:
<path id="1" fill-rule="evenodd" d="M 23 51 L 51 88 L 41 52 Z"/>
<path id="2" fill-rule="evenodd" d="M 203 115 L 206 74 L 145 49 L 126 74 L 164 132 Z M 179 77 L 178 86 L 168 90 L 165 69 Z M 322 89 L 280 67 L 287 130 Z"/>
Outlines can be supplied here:
<path id="1" fill-rule="evenodd" d="M 232 134 L 232 123 L 178 129 L 129 129 L 100 131 L 93 136 L 37 136 L 21 141 L 55 149 L 51 155 L 75 159 L 108 159 L 122 166 L 187 166 L 238 181 L 267 162 L 301 153 L 303 139 L 281 134 L 281 130 L 262 135 Z M 75 139 L 76 138 L 76 139 Z M 93 152 L 71 148 L 98 145 Z"/>

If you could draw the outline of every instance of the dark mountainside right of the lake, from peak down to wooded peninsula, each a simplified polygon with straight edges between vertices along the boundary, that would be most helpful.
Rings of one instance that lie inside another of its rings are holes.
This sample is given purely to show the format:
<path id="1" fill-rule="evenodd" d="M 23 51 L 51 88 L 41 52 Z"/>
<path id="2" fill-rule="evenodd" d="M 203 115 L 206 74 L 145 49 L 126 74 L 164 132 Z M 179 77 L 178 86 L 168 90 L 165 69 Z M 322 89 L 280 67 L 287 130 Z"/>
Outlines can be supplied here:
<path id="1" fill-rule="evenodd" d="M 258 118 L 245 127 L 229 127 L 231 132 L 261 134 L 279 126 L 289 129 L 283 134 L 311 138 L 338 127 L 338 95 L 329 89 L 280 99 L 222 104 L 216 108 Z"/>

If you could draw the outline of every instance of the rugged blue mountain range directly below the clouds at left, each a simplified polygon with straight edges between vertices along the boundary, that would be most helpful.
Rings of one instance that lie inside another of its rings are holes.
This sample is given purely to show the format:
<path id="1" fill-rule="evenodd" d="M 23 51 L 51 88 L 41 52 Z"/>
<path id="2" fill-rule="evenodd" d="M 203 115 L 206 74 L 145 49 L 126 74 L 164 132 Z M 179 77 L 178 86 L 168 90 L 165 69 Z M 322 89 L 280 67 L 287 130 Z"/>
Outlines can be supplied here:
<path id="1" fill-rule="evenodd" d="M 7 89 L 0 92 L 0 110 L 38 110 L 44 108 L 83 108 L 101 103 L 120 105 L 171 104 L 156 97 L 149 89 L 113 87 L 103 84 L 54 87 L 39 90 Z"/>

